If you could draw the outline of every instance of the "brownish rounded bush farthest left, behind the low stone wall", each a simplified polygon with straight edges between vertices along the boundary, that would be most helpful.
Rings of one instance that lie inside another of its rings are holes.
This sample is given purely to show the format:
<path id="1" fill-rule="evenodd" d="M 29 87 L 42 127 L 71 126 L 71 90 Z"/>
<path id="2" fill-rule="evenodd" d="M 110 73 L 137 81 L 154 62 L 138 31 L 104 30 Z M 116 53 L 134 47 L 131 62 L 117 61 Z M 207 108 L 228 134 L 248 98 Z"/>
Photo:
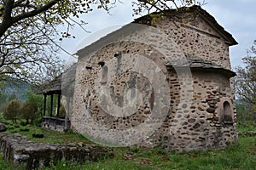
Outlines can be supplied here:
<path id="1" fill-rule="evenodd" d="M 17 118 L 20 116 L 20 100 L 13 99 L 9 101 L 8 105 L 3 112 L 3 116 L 7 120 L 11 120 L 12 122 L 17 122 Z"/>

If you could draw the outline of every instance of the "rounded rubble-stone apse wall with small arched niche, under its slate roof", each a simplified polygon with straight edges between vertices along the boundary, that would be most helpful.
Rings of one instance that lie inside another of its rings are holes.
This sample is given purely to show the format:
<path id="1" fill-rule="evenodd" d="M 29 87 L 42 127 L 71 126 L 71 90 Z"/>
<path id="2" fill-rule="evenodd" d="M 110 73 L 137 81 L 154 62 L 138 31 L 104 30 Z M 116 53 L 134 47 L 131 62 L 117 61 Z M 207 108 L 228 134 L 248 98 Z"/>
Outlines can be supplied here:
<path id="1" fill-rule="evenodd" d="M 150 142 L 172 150 L 222 149 L 236 143 L 235 99 L 229 78 L 218 71 L 192 74 L 193 98 L 188 101 L 188 96 L 181 95 L 186 88 L 181 87 L 189 84 L 180 82 L 175 71 L 169 72 L 171 111 Z M 225 102 L 230 111 L 224 111 Z"/>

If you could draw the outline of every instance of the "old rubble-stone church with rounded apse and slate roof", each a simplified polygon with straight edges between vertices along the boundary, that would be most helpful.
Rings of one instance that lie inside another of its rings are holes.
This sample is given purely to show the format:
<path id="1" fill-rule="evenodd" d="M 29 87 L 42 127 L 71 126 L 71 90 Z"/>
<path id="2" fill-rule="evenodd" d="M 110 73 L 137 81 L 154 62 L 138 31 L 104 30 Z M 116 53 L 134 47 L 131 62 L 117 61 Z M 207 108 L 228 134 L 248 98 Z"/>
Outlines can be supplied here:
<path id="1" fill-rule="evenodd" d="M 77 52 L 75 132 L 110 146 L 222 149 L 236 143 L 229 47 L 199 6 L 140 17 Z"/>

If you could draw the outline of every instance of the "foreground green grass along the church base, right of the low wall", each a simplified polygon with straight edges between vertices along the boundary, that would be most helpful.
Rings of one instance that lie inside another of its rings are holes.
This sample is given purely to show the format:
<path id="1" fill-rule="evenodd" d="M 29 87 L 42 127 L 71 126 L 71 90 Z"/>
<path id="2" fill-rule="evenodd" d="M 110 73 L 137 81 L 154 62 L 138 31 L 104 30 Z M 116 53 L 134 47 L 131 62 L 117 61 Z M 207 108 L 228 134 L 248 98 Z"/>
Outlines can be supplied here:
<path id="1" fill-rule="evenodd" d="M 255 139 L 242 137 L 225 150 L 173 153 L 160 149 L 115 148 L 115 158 L 90 164 L 63 161 L 44 169 L 256 169 Z"/>

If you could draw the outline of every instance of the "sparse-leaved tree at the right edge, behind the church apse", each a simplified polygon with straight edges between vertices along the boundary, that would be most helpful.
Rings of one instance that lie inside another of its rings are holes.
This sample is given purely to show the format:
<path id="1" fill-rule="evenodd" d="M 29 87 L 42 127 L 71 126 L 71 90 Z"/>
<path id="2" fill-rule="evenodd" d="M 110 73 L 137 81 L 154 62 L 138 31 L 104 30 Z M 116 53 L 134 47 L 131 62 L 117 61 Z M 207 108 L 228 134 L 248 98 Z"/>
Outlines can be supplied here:
<path id="1" fill-rule="evenodd" d="M 246 65 L 236 67 L 235 89 L 236 95 L 247 104 L 249 112 L 256 114 L 256 41 L 247 50 L 247 57 L 242 59 Z M 256 121 L 256 117 L 254 117 Z"/>

